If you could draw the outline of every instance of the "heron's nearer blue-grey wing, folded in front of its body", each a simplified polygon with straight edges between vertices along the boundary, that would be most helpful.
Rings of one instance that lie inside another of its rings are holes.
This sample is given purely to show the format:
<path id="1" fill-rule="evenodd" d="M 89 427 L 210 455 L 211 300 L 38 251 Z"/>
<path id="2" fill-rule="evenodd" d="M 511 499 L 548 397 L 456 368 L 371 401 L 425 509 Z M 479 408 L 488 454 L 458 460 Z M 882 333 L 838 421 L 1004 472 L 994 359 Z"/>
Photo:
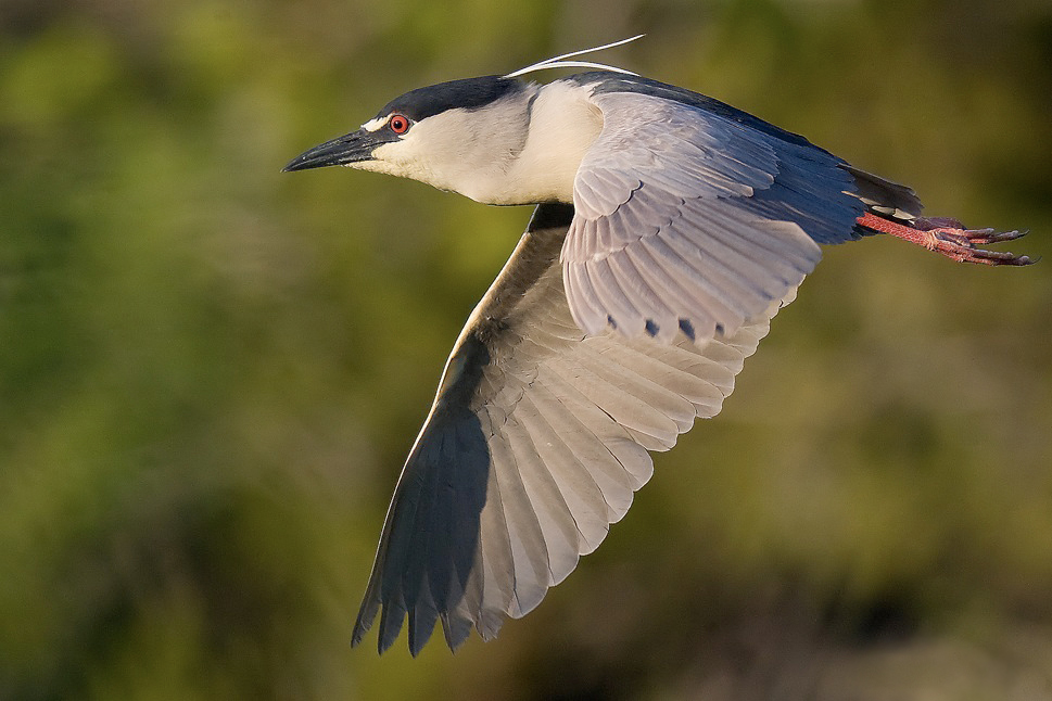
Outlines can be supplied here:
<path id="1" fill-rule="evenodd" d="M 604 125 L 578 170 L 561 256 L 570 310 L 590 334 L 733 333 L 800 283 L 819 243 L 859 238 L 855 178 L 802 138 L 730 107 L 638 92 L 592 100 Z"/>

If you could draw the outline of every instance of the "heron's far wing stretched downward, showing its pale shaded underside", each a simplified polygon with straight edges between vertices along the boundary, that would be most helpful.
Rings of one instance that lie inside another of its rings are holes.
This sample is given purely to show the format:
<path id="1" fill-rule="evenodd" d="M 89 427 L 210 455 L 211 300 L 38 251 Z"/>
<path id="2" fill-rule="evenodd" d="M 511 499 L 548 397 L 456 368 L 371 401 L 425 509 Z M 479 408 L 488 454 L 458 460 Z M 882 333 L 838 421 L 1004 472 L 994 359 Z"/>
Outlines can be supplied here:
<path id="1" fill-rule="evenodd" d="M 732 335 L 662 344 L 573 322 L 558 262 L 573 211 L 541 205 L 472 313 L 388 510 L 354 629 L 416 654 L 496 635 L 594 550 L 670 448 L 719 412 L 778 302 Z"/>

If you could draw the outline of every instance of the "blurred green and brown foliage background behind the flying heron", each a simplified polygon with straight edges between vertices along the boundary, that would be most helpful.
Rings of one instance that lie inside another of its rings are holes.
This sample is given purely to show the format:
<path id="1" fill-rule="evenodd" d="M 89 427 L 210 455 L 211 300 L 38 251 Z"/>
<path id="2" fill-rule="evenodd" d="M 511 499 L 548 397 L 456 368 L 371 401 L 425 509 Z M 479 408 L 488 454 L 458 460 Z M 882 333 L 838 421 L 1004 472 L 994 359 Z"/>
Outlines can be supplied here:
<path id="1" fill-rule="evenodd" d="M 603 59 L 1047 260 L 827 250 L 540 609 L 352 651 L 529 211 L 279 170 L 405 90 L 641 31 Z M 0 221 L 0 698 L 1052 699 L 1047 0 L 3 0 Z"/>

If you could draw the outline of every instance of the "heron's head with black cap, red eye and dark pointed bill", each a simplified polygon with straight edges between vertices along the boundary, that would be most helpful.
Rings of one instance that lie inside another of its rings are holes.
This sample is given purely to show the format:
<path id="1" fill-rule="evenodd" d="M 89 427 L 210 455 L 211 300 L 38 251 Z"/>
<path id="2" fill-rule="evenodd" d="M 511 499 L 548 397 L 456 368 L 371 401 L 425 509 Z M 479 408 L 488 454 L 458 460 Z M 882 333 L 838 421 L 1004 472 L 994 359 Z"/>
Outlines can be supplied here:
<path id="1" fill-rule="evenodd" d="M 525 145 L 535 92 L 534 85 L 500 76 L 418 88 L 357 131 L 300 154 L 284 170 L 342 165 L 490 201 L 492 183 Z"/>

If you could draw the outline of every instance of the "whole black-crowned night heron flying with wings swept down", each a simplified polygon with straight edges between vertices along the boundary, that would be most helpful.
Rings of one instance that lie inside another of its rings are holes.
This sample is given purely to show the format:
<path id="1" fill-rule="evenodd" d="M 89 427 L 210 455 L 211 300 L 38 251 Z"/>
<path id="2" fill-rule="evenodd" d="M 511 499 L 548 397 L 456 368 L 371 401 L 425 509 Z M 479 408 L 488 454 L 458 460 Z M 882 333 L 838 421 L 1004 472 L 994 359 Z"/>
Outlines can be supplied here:
<path id="1" fill-rule="evenodd" d="M 641 35 L 642 36 L 642 35 Z M 416 657 L 537 607 L 650 477 L 651 451 L 714 417 L 821 257 L 889 234 L 952 260 L 1023 231 L 922 216 L 915 192 L 692 90 L 561 54 L 410 90 L 286 171 L 410 178 L 532 205 L 471 311 L 386 511 L 354 625 Z M 585 68 L 546 84 L 522 76 Z"/>

